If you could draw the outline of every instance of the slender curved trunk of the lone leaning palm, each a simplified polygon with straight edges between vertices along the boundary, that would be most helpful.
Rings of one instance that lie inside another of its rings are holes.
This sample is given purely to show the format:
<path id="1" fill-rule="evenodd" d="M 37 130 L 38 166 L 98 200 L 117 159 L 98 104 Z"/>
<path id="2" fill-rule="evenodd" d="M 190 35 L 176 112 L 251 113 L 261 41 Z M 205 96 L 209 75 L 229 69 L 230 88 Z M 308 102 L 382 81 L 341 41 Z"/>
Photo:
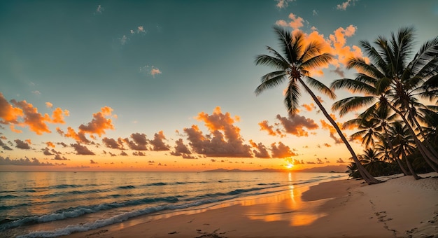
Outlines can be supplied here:
<path id="1" fill-rule="evenodd" d="M 319 109 L 323 112 L 325 118 L 330 121 L 330 123 L 333 125 L 334 129 L 338 132 L 339 137 L 341 137 L 341 140 L 344 142 L 345 146 L 347 147 L 348 151 L 350 151 L 351 156 L 353 157 L 354 162 L 358 166 L 358 171 L 362 178 L 367 182 L 368 184 L 376 184 L 376 183 L 382 183 L 383 181 L 380 181 L 379 179 L 374 178 L 365 167 L 363 167 L 362 164 L 360 164 L 360 161 L 358 159 L 358 156 L 356 156 L 355 152 L 353 151 L 353 148 L 351 148 L 351 145 L 348 143 L 347 139 L 344 137 L 344 134 L 342 134 L 341 129 L 339 129 L 339 126 L 336 124 L 336 122 L 333 120 L 333 118 L 330 116 L 329 113 L 325 110 L 323 104 L 319 101 L 318 97 L 310 90 L 309 87 L 307 87 L 306 83 L 301 78 L 298 78 L 299 83 L 303 85 L 303 87 L 306 89 L 306 91 L 311 95 L 313 101 L 318 105 Z"/>

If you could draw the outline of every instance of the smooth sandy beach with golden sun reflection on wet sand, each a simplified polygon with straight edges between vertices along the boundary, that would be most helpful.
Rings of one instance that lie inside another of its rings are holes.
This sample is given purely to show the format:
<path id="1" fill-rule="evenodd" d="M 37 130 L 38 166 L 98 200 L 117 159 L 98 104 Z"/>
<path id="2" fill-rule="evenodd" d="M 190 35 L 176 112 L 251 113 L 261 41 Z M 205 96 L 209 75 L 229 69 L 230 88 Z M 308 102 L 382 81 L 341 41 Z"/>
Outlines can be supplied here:
<path id="1" fill-rule="evenodd" d="M 66 237 L 438 237 L 438 174 L 340 180 Z"/>

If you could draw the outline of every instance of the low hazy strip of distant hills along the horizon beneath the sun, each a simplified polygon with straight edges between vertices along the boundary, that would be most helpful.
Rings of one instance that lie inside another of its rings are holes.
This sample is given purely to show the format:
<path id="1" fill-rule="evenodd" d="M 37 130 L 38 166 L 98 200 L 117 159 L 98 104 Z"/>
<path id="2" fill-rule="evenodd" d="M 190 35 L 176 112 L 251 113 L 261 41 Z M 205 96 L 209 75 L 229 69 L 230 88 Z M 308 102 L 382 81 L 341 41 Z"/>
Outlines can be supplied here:
<path id="1" fill-rule="evenodd" d="M 309 169 L 288 170 L 288 169 L 212 169 L 204 172 L 313 172 L 313 173 L 345 173 L 346 165 L 327 165 L 324 167 L 314 167 Z"/>

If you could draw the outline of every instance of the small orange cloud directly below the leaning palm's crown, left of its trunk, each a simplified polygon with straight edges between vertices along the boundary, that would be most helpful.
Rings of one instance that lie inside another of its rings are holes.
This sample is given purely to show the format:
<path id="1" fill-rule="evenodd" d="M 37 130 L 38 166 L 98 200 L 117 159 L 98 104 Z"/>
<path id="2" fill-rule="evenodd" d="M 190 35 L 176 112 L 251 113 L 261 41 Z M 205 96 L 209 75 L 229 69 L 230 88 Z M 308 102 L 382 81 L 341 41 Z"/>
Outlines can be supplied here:
<path id="1" fill-rule="evenodd" d="M 305 118 L 304 116 L 291 116 L 290 118 L 285 118 L 277 114 L 276 118 L 280 120 L 281 125 L 283 125 L 285 132 L 293 134 L 297 137 L 307 137 L 309 133 L 304 130 L 306 127 L 308 130 L 318 129 L 318 125 L 310 118 Z"/>

